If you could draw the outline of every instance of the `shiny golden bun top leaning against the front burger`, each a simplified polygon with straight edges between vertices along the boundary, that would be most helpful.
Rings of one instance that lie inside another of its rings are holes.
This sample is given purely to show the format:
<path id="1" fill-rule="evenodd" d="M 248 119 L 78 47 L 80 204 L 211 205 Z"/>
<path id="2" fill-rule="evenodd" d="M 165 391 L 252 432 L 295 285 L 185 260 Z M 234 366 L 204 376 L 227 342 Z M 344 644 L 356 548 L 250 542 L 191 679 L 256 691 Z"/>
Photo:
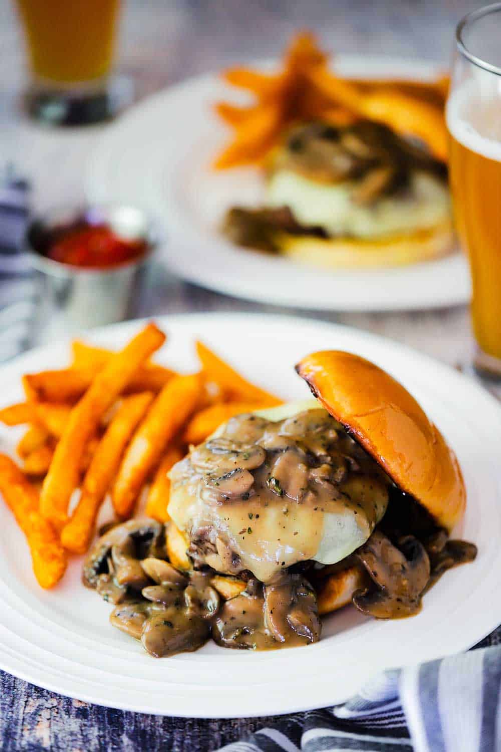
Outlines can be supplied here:
<path id="1" fill-rule="evenodd" d="M 397 487 L 450 532 L 466 506 L 463 476 L 454 452 L 402 384 L 340 350 L 312 353 L 296 370 Z"/>

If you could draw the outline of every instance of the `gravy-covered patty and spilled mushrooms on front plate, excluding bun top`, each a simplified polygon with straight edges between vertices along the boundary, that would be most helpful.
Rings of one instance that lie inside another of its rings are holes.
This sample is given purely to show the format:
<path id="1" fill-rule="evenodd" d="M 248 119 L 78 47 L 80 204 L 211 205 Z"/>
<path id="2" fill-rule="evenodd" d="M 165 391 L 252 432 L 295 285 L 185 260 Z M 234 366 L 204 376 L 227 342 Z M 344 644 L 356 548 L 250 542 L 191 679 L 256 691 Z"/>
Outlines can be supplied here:
<path id="1" fill-rule="evenodd" d="M 211 636 L 243 649 L 318 641 L 315 590 L 345 564 L 364 572 L 352 599 L 360 611 L 409 616 L 446 569 L 476 553 L 448 541 L 323 409 L 229 420 L 174 466 L 169 512 L 189 535 L 189 572 L 168 562 L 154 520 L 111 528 L 83 567 L 84 584 L 115 605 L 113 626 L 153 656 Z"/>

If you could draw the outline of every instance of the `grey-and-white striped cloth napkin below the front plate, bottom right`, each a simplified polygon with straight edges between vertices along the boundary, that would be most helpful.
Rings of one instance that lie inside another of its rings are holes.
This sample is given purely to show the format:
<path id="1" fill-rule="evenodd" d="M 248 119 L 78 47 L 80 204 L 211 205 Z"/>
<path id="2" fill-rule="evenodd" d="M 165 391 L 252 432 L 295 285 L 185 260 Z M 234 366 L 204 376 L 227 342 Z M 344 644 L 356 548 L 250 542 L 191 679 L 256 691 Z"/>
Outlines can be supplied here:
<path id="1" fill-rule="evenodd" d="M 219 752 L 501 752 L 501 627 L 478 650 L 376 676 L 333 708 Z"/>

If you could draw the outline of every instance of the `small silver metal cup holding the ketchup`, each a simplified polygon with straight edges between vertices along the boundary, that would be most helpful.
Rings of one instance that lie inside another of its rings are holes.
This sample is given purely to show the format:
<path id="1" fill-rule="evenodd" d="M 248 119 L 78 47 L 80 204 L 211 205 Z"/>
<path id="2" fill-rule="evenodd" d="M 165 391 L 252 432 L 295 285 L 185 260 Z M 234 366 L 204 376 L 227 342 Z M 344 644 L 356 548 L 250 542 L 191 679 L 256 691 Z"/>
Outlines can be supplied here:
<path id="1" fill-rule="evenodd" d="M 83 268 L 63 264 L 42 253 L 44 240 L 56 228 L 78 220 L 106 224 L 117 235 L 146 241 L 137 259 L 110 268 Z M 98 205 L 59 208 L 35 219 L 26 232 L 26 250 L 37 270 L 40 315 L 36 339 L 75 335 L 92 326 L 134 317 L 146 276 L 146 265 L 156 245 L 155 232 L 143 211 L 131 206 Z"/>

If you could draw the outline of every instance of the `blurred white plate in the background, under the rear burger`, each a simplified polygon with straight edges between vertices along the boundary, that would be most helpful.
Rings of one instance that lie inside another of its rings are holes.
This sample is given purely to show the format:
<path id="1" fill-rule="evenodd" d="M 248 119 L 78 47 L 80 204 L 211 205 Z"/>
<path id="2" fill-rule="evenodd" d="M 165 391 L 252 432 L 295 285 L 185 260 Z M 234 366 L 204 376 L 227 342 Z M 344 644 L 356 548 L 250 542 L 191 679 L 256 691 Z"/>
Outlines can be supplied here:
<path id="1" fill-rule="evenodd" d="M 343 75 L 429 78 L 424 62 L 340 56 Z M 214 156 L 228 132 L 213 114 L 234 89 L 210 74 L 165 89 L 132 108 L 107 131 L 89 160 L 91 201 L 143 205 L 164 228 L 165 262 L 186 280 L 263 303 L 334 311 L 433 308 L 469 300 L 460 253 L 407 267 L 322 271 L 229 243 L 218 231 L 226 208 L 258 204 L 262 180 L 241 168 L 216 173 Z"/>

